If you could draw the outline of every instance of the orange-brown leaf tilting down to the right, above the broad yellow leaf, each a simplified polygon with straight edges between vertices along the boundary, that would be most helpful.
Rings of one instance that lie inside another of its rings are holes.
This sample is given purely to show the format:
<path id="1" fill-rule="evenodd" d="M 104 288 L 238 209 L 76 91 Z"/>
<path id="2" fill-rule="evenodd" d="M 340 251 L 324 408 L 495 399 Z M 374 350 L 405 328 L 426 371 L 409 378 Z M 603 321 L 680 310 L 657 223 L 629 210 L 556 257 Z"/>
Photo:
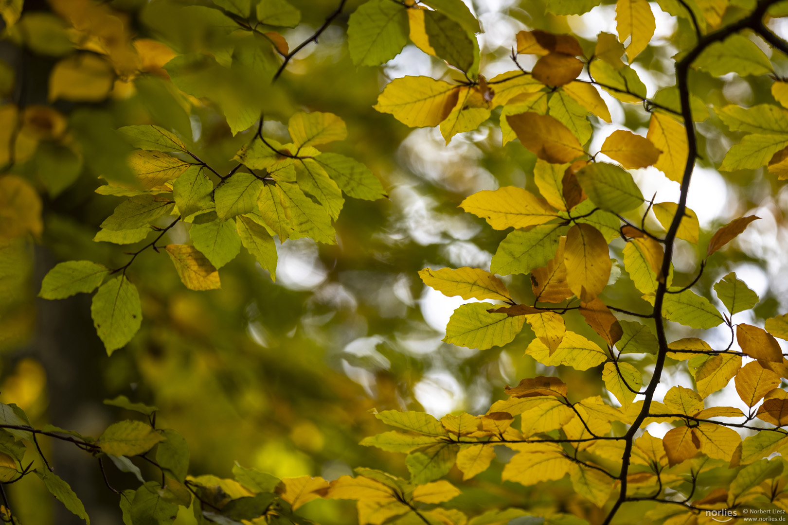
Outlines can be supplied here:
<path id="1" fill-rule="evenodd" d="M 506 120 L 522 145 L 545 161 L 563 164 L 585 154 L 577 137 L 552 116 L 527 112 Z"/>

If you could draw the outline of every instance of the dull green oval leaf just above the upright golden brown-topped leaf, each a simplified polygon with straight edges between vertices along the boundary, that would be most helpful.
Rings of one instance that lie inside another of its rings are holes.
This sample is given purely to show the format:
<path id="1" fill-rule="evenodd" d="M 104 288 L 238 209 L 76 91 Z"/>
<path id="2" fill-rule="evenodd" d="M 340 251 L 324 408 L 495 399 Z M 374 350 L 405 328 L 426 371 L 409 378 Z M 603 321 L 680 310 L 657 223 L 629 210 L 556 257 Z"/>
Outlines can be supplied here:
<path id="1" fill-rule="evenodd" d="M 578 183 L 597 207 L 624 213 L 643 204 L 643 194 L 629 172 L 612 164 L 595 162 L 582 168 Z"/>

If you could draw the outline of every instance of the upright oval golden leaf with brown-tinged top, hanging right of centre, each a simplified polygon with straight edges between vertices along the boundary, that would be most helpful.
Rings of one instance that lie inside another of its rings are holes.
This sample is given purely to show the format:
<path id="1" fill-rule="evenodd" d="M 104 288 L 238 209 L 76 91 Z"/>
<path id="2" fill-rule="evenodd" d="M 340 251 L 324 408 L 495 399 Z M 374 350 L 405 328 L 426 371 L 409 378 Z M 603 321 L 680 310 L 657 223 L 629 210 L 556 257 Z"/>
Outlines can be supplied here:
<path id="1" fill-rule="evenodd" d="M 591 301 L 602 293 L 610 279 L 612 263 L 608 242 L 597 228 L 575 224 L 567 233 L 563 249 L 567 265 L 567 282 L 582 301 Z"/>

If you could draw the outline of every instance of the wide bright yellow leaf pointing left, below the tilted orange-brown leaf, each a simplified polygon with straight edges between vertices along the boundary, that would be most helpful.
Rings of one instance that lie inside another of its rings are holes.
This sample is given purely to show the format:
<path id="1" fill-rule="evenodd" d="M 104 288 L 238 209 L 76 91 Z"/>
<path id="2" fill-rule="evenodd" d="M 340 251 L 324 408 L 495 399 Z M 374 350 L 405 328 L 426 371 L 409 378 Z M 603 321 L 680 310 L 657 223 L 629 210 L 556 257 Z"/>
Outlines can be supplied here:
<path id="1" fill-rule="evenodd" d="M 545 224 L 559 216 L 547 202 L 528 190 L 514 186 L 479 191 L 459 206 L 486 219 L 496 230 Z"/>

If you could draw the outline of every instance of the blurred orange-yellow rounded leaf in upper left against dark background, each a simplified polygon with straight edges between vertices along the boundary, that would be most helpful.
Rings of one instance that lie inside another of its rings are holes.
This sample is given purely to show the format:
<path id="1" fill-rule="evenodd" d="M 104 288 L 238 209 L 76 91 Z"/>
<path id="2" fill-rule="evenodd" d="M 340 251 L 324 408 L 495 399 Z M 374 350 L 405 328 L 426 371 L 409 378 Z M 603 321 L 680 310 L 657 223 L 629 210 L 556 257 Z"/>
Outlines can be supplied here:
<path id="1" fill-rule="evenodd" d="M 115 81 L 112 65 L 97 54 L 80 53 L 59 61 L 50 73 L 49 100 L 101 102 Z"/>

